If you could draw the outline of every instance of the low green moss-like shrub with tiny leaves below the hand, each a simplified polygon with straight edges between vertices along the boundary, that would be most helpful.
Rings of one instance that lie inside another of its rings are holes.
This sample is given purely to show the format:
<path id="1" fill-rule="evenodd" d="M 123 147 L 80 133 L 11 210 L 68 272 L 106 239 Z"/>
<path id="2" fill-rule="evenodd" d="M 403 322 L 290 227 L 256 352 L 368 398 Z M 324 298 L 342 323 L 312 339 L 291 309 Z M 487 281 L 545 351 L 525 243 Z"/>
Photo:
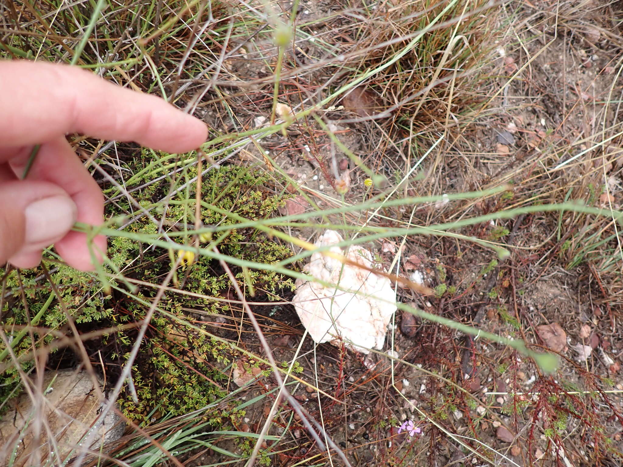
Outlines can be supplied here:
<path id="1" fill-rule="evenodd" d="M 153 161 L 146 158 L 145 153 L 133 161 L 133 170 L 140 173 L 141 164 L 145 167 L 151 164 L 153 168 Z M 151 172 L 145 171 L 143 175 L 135 177 L 133 182 L 145 184 L 148 174 Z M 195 175 L 196 171 L 188 167 L 176 183 L 187 181 Z M 267 187 L 271 184 L 270 176 L 258 169 L 226 166 L 207 172 L 202 183 L 202 224 L 227 226 L 239 222 L 237 219 L 240 217 L 257 220 L 274 215 L 275 210 L 285 205 L 289 195 L 278 191 L 269 192 Z M 126 188 L 130 186 L 126 184 Z M 155 207 L 155 212 L 164 218 L 161 219 L 162 225 L 171 229 L 169 231 L 193 229 L 194 193 L 190 188 L 181 189 L 176 196 L 166 200 L 166 209 L 161 209 L 161 200 L 166 199 L 170 191 L 171 181 L 163 179 L 132 194 L 143 207 Z M 113 191 L 108 190 L 108 193 L 113 194 Z M 130 204 L 123 199 L 107 205 L 109 216 L 127 217 L 130 212 Z M 126 229 L 153 235 L 161 231 L 161 227 L 145 216 L 136 219 Z M 172 238 L 176 242 L 192 244 L 191 235 Z M 221 242 L 217 244 L 219 252 L 251 262 L 273 264 L 292 255 L 286 245 L 254 228 L 232 228 L 226 231 L 226 235 L 221 233 L 220 239 Z M 156 296 L 156 287 L 137 287 L 130 285 L 128 280 L 159 285 L 173 267 L 171 255 L 166 249 L 149 246 L 128 238 L 109 239 L 107 253 L 110 263 L 105 265 L 105 271 L 112 276 L 112 280 L 111 292 L 108 294 L 97 276 L 65 266 L 52 269 L 50 274 L 60 296 L 55 295 L 54 288 L 41 268 L 9 271 L 6 275 L 8 296 L 1 310 L 2 321 L 12 351 L 18 359 L 23 359 L 20 363 L 22 369 L 28 371 L 32 367 L 31 360 L 27 358 L 28 352 L 49 345 L 59 334 L 69 332 L 65 326 L 67 314 L 72 316 L 81 333 L 115 328 L 145 318 Z M 245 293 L 253 291 L 265 300 L 278 300 L 282 291 L 294 288 L 292 279 L 274 271 L 242 271 L 234 266 L 231 266 L 231 271 Z M 232 361 L 235 352 L 228 344 L 209 337 L 206 334 L 209 329 L 205 325 L 194 323 L 197 316 L 231 312 L 227 302 L 211 298 L 226 294 L 232 287 L 229 276 L 216 260 L 197 256 L 192 262 L 187 262 L 185 270 L 178 270 L 177 279 L 174 285 L 196 295 L 169 293 L 159 301 L 141 351 L 133 362 L 131 378 L 126 382 L 119 399 L 126 417 L 138 422 L 188 413 L 206 407 L 226 395 L 224 382 L 227 377 L 220 368 Z M 39 328 L 31 334 L 24 331 L 24 326 L 31 326 L 31 331 L 34 326 Z M 98 359 L 101 357 L 107 380 L 113 384 L 130 355 L 135 337 L 136 329 L 123 329 L 113 330 L 95 341 L 85 341 L 87 351 L 97 354 Z M 56 366 L 74 366 L 78 359 L 75 356 L 68 358 L 68 353 L 54 354 L 52 349 L 51 358 L 55 359 Z M 7 370 L 0 375 L 1 401 L 19 394 L 19 374 L 11 366 L 9 352 L 2 343 L 0 363 L 8 365 Z M 297 365 L 293 367 L 293 372 L 300 371 Z M 221 427 L 232 427 L 235 417 L 239 418 L 240 413 L 233 406 L 219 407 L 208 418 Z"/>

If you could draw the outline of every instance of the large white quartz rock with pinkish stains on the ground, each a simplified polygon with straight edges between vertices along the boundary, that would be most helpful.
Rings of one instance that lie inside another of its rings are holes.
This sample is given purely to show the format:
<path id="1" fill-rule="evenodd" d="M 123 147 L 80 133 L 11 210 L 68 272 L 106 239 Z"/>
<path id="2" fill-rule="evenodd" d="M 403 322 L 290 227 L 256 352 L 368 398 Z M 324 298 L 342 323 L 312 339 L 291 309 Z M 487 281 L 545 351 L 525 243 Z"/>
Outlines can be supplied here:
<path id="1" fill-rule="evenodd" d="M 338 232 L 326 230 L 315 244 L 324 247 L 341 241 Z M 368 268 L 373 266 L 372 254 L 365 248 L 352 245 L 348 252 L 340 247 L 331 247 L 330 251 Z M 359 346 L 383 348 L 389 320 L 396 311 L 396 292 L 388 278 L 354 265 L 342 265 L 340 260 L 323 252 L 313 253 L 303 272 L 339 286 L 297 280 L 293 303 L 315 342 L 337 343 L 341 339 L 350 349 L 364 354 L 369 351 Z"/>

